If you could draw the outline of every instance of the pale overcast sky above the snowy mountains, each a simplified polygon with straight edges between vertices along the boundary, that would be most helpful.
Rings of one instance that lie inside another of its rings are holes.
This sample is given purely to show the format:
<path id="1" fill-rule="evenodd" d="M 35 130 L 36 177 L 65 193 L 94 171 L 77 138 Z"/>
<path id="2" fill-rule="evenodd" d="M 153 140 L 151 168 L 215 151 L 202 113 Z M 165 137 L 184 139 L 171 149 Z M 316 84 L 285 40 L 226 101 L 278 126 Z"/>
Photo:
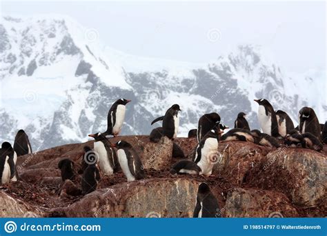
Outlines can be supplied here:
<path id="1" fill-rule="evenodd" d="M 144 57 L 204 63 L 240 44 L 261 45 L 284 70 L 301 73 L 325 70 L 325 4 L 5 1 L 1 12 L 65 14 L 86 28 L 97 29 L 107 46 Z M 208 34 L 216 29 L 219 39 L 209 40 Z"/>

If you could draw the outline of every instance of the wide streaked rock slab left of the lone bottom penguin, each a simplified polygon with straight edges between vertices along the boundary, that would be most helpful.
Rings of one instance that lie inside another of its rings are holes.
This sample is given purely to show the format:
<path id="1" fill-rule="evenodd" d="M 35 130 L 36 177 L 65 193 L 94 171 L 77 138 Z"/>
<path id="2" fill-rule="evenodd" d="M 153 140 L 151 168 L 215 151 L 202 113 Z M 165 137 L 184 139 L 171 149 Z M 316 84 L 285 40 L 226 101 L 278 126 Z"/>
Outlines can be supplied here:
<path id="1" fill-rule="evenodd" d="M 92 192 L 64 208 L 67 217 L 192 217 L 198 181 L 146 179 Z"/>

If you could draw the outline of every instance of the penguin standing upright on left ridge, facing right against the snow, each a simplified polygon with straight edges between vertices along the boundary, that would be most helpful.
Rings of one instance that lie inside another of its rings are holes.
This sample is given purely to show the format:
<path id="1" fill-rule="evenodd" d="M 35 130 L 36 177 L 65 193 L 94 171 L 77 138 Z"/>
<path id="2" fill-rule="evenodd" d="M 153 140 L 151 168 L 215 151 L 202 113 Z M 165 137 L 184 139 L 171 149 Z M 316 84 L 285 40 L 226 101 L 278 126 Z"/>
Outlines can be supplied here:
<path id="1" fill-rule="evenodd" d="M 118 99 L 112 104 L 108 112 L 108 128 L 106 132 L 103 132 L 103 135 L 114 135 L 114 137 L 119 135 L 123 126 L 123 120 L 125 119 L 126 104 L 130 101 L 128 99 Z"/>

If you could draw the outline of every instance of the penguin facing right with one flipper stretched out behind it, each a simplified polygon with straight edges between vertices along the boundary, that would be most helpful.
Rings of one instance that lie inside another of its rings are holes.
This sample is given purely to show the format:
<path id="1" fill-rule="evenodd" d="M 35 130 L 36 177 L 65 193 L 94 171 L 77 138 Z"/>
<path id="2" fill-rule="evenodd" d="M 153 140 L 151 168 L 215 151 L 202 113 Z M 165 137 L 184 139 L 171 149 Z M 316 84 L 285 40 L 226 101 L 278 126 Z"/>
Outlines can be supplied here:
<path id="1" fill-rule="evenodd" d="M 179 105 L 174 104 L 172 105 L 167 111 L 164 117 L 158 117 L 154 121 L 151 122 L 155 124 L 157 121 L 162 120 L 162 133 L 164 136 L 168 137 L 169 139 L 175 139 L 177 137 L 178 127 L 179 127 L 179 116 L 178 112 L 181 109 Z"/>

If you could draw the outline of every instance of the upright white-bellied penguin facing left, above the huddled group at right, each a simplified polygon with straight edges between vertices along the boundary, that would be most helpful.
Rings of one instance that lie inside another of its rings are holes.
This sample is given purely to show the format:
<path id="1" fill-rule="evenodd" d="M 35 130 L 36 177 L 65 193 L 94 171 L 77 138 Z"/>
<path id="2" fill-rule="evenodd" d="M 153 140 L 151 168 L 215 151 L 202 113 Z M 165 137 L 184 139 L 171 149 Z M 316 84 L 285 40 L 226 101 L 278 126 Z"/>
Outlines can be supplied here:
<path id="1" fill-rule="evenodd" d="M 273 106 L 266 99 L 255 99 L 259 104 L 258 119 L 262 132 L 273 137 L 279 137 L 277 117 Z"/>

